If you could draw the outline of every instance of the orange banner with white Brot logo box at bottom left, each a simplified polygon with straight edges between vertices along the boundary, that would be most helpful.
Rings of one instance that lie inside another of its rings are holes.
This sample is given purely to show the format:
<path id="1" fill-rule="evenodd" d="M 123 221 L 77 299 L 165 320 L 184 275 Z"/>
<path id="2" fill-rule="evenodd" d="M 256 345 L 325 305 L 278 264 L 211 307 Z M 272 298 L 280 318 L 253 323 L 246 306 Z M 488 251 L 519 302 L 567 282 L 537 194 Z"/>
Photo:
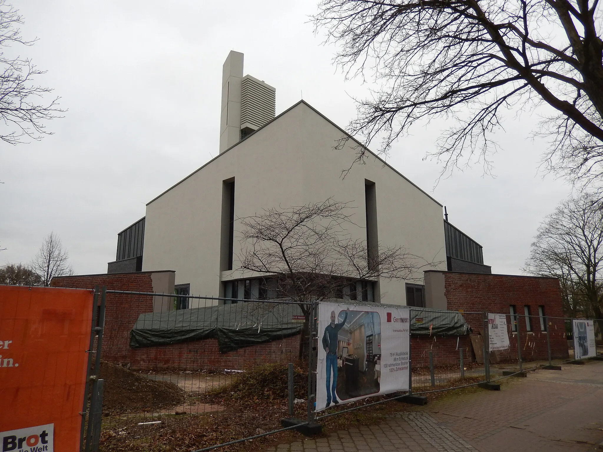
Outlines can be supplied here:
<path id="1" fill-rule="evenodd" d="M 79 450 L 92 301 L 90 290 L 0 286 L 0 451 Z"/>

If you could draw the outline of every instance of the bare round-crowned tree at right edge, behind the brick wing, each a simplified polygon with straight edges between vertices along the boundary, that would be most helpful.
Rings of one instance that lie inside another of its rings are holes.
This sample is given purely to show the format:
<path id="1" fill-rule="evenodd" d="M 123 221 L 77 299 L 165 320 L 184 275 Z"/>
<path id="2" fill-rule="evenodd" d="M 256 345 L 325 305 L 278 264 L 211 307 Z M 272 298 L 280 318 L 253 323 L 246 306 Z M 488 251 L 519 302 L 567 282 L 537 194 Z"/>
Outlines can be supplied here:
<path id="1" fill-rule="evenodd" d="M 603 319 L 602 265 L 603 201 L 584 194 L 561 202 L 545 218 L 523 270 L 559 278 L 567 314 Z"/>

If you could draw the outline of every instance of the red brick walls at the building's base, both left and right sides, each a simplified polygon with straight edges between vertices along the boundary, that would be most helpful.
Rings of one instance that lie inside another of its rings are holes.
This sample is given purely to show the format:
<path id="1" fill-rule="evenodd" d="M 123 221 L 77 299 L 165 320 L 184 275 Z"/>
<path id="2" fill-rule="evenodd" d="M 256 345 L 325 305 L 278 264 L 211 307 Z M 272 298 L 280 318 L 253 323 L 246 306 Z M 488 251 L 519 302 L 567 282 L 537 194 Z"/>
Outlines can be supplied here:
<path id="1" fill-rule="evenodd" d="M 529 304 L 532 314 L 535 315 L 532 318 L 534 333 L 526 333 L 525 321 L 520 318 L 522 357 L 525 360 L 546 358 L 546 335 L 540 331 L 538 305 L 544 305 L 545 312 L 549 316 L 563 316 L 557 280 L 453 272 L 444 272 L 444 275 L 448 309 L 463 309 L 463 315 L 474 331 L 482 328 L 482 316 L 479 313 L 469 312 L 488 310 L 508 314 L 509 304 L 515 304 L 518 313 L 523 313 L 523 305 Z M 107 286 L 109 290 L 153 291 L 151 272 L 60 277 L 54 278 L 51 285 L 92 289 L 96 284 Z M 245 347 L 229 353 L 219 353 L 216 339 L 131 349 L 130 330 L 140 313 L 145 312 L 153 312 L 152 297 L 107 294 L 103 359 L 130 363 L 136 369 L 243 369 L 259 363 L 285 363 L 297 359 L 299 336 Z M 550 319 L 549 321 L 552 355 L 560 358 L 567 357 L 563 320 Z M 499 353 L 502 360 L 517 359 L 515 335 L 510 339 L 510 351 Z M 436 366 L 457 365 L 460 348 L 466 351 L 464 356 L 467 362 L 473 360 L 468 336 L 412 337 L 411 347 L 413 367 L 429 365 L 429 350 L 433 351 Z"/>

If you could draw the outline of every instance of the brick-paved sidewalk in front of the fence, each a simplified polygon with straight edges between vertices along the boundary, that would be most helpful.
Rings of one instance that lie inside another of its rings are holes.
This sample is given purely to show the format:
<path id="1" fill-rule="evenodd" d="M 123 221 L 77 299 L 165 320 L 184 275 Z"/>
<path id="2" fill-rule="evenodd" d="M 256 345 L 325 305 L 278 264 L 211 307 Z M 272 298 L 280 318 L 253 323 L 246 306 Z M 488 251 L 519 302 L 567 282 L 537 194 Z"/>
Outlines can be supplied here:
<path id="1" fill-rule="evenodd" d="M 603 441 L 603 362 L 529 372 L 499 391 L 408 407 L 380 425 L 280 444 L 270 452 L 595 451 Z"/>

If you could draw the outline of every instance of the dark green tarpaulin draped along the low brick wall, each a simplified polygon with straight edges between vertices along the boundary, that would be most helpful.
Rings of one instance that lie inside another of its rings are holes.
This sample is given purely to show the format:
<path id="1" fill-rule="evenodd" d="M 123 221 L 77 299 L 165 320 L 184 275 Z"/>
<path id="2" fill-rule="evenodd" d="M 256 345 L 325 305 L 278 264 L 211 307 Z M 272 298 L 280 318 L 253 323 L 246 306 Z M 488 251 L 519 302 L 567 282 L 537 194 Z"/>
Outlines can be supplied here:
<path id="1" fill-rule="evenodd" d="M 336 300 L 335 303 L 341 301 Z M 400 308 L 392 304 L 346 303 Z M 410 309 L 413 336 L 463 336 L 469 333 L 469 325 L 458 312 Z M 140 314 L 130 331 L 130 347 L 154 347 L 215 338 L 219 351 L 226 353 L 294 336 L 301 332 L 301 328 L 303 313 L 297 304 L 248 301 Z"/>

